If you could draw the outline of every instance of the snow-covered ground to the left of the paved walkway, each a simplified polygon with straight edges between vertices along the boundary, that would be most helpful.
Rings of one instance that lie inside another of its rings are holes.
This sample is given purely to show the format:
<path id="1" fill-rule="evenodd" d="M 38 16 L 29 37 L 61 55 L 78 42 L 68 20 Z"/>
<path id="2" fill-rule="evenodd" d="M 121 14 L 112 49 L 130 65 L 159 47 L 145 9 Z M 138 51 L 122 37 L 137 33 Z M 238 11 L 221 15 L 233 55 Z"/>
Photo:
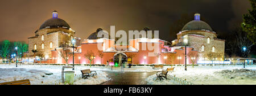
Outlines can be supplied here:
<path id="1" fill-rule="evenodd" d="M 0 64 L 0 82 L 16 81 L 30 79 L 33 85 L 56 85 L 61 83 L 61 68 L 63 66 L 47 66 L 47 65 L 28 65 L 28 64 Z M 109 81 L 105 72 L 100 71 L 99 68 L 92 67 L 91 70 L 97 71 L 97 75 L 89 78 L 81 78 L 81 69 L 88 69 L 88 67 L 75 67 L 75 82 L 74 84 L 101 84 Z M 64 71 L 72 71 L 68 68 Z M 52 74 L 53 73 L 53 74 Z"/>

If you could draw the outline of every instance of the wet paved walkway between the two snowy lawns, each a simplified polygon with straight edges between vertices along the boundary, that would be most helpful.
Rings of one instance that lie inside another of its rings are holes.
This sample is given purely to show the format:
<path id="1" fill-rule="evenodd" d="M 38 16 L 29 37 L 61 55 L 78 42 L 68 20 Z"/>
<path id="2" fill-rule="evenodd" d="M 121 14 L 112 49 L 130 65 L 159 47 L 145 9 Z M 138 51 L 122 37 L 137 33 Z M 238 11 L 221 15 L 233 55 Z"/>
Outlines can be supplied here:
<path id="1" fill-rule="evenodd" d="M 145 78 L 154 75 L 156 72 L 106 72 L 110 81 L 102 85 L 146 85 Z"/>

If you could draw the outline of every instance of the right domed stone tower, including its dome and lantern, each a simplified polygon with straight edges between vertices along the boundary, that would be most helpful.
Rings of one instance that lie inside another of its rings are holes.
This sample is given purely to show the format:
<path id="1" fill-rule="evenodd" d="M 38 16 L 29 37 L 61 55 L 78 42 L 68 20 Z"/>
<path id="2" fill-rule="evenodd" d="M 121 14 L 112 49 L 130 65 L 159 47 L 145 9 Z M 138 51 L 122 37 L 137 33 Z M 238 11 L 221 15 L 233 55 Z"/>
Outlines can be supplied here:
<path id="1" fill-rule="evenodd" d="M 172 46 L 179 46 L 184 38 L 187 38 L 188 46 L 199 50 L 199 60 L 208 60 L 205 59 L 205 55 L 210 52 L 221 54 L 217 59 L 219 61 L 224 57 L 225 40 L 217 38 L 210 25 L 200 20 L 200 14 L 195 14 L 195 20 L 184 25 L 181 32 L 177 33 L 177 39 L 172 41 Z"/>

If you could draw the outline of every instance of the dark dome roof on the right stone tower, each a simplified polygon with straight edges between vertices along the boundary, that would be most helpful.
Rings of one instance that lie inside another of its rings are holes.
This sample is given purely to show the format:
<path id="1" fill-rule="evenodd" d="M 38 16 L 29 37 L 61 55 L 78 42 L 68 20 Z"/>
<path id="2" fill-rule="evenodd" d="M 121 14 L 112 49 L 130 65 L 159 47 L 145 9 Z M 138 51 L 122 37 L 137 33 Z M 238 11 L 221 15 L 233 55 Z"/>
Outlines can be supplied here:
<path id="1" fill-rule="evenodd" d="M 209 31 L 213 32 L 210 25 L 201 20 L 189 21 L 187 24 L 184 25 L 184 27 L 181 29 L 181 31 L 183 31 L 183 30 L 201 30 L 201 29 L 205 29 L 205 30 L 209 30 Z"/>

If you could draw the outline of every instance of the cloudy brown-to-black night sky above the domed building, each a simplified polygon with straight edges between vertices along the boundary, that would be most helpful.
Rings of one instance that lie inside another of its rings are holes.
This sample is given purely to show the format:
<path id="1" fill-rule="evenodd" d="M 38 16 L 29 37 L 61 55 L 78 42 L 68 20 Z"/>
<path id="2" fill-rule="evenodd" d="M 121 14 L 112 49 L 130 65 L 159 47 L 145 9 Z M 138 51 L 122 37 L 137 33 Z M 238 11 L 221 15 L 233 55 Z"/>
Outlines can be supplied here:
<path id="1" fill-rule="evenodd" d="M 171 41 L 170 25 L 181 14 L 198 12 L 214 32 L 228 33 L 242 22 L 250 8 L 248 0 L 1 0 L 0 41 L 28 41 L 53 10 L 67 21 L 76 36 L 85 39 L 102 28 L 159 30 L 159 38 Z"/>

